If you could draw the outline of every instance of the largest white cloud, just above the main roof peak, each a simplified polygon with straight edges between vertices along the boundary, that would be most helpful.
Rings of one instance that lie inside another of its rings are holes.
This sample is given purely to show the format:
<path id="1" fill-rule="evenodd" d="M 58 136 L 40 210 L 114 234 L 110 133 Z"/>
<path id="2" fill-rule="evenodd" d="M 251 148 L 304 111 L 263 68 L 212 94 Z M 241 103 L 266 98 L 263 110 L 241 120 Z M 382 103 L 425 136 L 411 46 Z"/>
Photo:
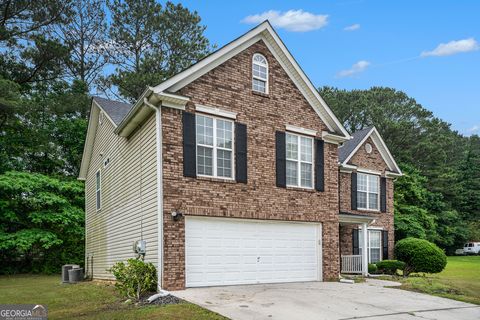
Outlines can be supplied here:
<path id="1" fill-rule="evenodd" d="M 274 27 L 294 32 L 306 32 L 325 27 L 328 23 L 327 19 L 328 15 L 316 15 L 301 9 L 288 10 L 286 12 L 270 10 L 260 14 L 247 16 L 242 22 L 257 24 L 269 20 Z"/>

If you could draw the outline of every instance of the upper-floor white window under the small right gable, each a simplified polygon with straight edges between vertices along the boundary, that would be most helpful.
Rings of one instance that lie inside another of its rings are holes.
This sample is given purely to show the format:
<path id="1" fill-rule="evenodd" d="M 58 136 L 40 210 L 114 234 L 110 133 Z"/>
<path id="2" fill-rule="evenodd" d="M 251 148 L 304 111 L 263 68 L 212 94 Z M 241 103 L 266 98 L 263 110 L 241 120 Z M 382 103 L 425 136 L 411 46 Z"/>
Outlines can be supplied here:
<path id="1" fill-rule="evenodd" d="M 360 210 L 379 210 L 379 177 L 373 174 L 357 174 L 357 207 Z"/>

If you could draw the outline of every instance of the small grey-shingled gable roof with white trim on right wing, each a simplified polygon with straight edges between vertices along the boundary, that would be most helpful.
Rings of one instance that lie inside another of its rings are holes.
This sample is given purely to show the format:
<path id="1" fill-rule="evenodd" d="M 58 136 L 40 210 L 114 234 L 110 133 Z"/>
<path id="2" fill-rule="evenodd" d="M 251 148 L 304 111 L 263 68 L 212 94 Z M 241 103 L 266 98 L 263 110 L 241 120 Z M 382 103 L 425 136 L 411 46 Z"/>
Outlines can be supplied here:
<path id="1" fill-rule="evenodd" d="M 362 130 L 356 131 L 352 134 L 352 139 L 345 141 L 341 147 L 338 148 L 338 161 L 340 166 L 347 167 L 348 161 L 353 157 L 353 155 L 358 151 L 360 146 L 362 146 L 365 141 L 371 137 L 375 147 L 378 149 L 380 155 L 388 166 L 389 174 L 394 176 L 402 175 L 400 167 L 395 162 L 390 150 L 388 150 L 385 141 L 383 141 L 380 133 L 378 133 L 377 128 L 369 127 Z M 350 166 L 351 167 L 351 166 Z"/>

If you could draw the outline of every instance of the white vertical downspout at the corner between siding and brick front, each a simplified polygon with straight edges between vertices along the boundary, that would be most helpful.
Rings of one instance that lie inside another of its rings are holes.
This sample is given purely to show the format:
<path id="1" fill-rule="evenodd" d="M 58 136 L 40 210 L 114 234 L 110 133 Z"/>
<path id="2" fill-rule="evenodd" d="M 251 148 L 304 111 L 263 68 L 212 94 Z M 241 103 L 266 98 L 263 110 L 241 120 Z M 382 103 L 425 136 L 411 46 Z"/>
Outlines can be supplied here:
<path id="1" fill-rule="evenodd" d="M 162 142 L 162 107 L 151 104 L 147 98 L 143 103 L 155 110 L 156 142 L 157 142 L 157 234 L 158 234 L 158 267 L 157 267 L 157 290 L 162 292 L 163 283 L 163 142 Z"/>

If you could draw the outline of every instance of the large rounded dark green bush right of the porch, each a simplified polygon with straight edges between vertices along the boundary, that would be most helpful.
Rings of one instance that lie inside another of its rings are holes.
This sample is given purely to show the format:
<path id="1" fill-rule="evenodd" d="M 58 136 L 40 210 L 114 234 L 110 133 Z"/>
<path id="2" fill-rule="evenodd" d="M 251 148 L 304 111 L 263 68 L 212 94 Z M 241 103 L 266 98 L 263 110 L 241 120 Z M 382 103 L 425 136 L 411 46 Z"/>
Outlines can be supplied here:
<path id="1" fill-rule="evenodd" d="M 395 256 L 405 262 L 403 275 L 412 272 L 438 273 L 447 265 L 447 256 L 434 243 L 417 238 L 406 238 L 395 245 Z"/>

